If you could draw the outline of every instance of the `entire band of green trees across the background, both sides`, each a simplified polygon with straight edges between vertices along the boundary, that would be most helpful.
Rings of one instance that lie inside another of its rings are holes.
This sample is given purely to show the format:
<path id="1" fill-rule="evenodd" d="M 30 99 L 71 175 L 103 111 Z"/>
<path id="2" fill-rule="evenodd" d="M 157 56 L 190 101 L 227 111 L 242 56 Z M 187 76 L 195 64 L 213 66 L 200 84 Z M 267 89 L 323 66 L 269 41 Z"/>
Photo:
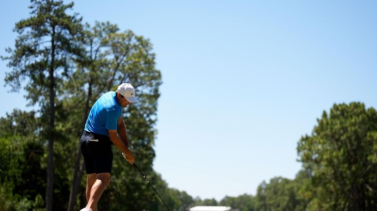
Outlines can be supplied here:
<path id="1" fill-rule="evenodd" d="M 86 203 L 79 137 L 91 105 L 122 82 L 139 102 L 123 112 L 136 162 L 174 211 L 195 205 L 240 211 L 377 210 L 377 113 L 363 103 L 335 104 L 297 144 L 303 169 L 294 180 L 262 182 L 255 196 L 193 198 L 168 188 L 153 170 L 161 72 L 152 44 L 112 23 L 82 23 L 73 3 L 31 0 L 30 17 L 16 23 L 14 48 L 1 57 L 12 70 L 5 84 L 25 85 L 33 111 L 0 118 L 0 211 L 73 211 Z M 247 166 L 245 166 L 247 167 Z M 103 211 L 163 211 L 139 172 L 114 153 Z"/>

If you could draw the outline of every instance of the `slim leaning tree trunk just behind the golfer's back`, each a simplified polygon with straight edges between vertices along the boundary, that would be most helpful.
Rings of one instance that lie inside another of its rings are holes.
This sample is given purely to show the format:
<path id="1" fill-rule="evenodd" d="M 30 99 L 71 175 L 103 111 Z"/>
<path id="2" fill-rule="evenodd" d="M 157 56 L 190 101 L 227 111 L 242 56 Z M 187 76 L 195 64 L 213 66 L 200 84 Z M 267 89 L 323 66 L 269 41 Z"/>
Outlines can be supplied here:
<path id="1" fill-rule="evenodd" d="M 92 96 L 92 81 L 90 80 L 88 94 L 87 94 L 87 98 L 85 102 L 85 109 L 84 109 L 83 117 L 82 117 L 82 128 L 84 127 L 86 118 L 88 117 L 89 102 L 90 102 L 91 96 Z M 79 136 L 81 136 L 80 133 L 79 133 Z M 84 163 L 81 162 L 81 150 L 79 146 L 79 149 L 76 154 L 76 164 L 75 164 L 75 171 L 73 172 L 71 193 L 69 195 L 68 211 L 73 211 L 74 206 L 76 204 L 77 192 L 80 187 L 80 181 L 81 181 L 83 173 L 84 173 Z"/>

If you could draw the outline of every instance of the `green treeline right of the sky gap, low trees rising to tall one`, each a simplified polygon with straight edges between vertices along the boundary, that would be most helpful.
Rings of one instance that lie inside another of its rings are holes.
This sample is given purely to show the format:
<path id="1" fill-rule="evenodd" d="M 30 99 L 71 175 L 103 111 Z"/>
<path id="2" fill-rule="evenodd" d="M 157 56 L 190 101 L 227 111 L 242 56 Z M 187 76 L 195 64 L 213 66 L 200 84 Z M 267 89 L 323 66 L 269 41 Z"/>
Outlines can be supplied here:
<path id="1" fill-rule="evenodd" d="M 335 104 L 297 144 L 303 169 L 294 180 L 263 181 L 255 196 L 219 203 L 240 211 L 376 211 L 377 112 L 363 103 Z"/>

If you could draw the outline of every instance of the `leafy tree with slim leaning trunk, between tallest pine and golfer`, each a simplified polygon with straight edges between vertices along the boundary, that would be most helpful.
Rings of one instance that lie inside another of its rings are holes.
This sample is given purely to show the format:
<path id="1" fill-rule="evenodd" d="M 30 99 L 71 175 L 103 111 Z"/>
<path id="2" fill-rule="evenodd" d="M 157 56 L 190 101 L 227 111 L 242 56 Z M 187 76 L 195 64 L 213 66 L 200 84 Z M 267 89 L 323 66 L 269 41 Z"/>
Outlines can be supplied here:
<path id="1" fill-rule="evenodd" d="M 106 78 L 111 57 L 111 51 L 108 50 L 109 35 L 118 31 L 119 28 L 110 23 L 96 23 L 90 27 L 85 25 L 82 37 L 82 47 L 85 49 L 81 58 L 77 61 L 77 69 L 73 72 L 70 80 L 64 82 L 65 90 L 65 109 L 69 110 L 71 115 L 69 122 L 70 127 L 65 128 L 65 133 L 75 134 L 81 137 L 82 128 L 85 125 L 90 108 L 97 100 L 100 90 L 107 85 L 103 78 Z M 121 61 L 123 63 L 123 61 Z M 84 102 L 84 106 L 80 106 Z M 72 139 L 75 139 L 72 137 Z M 81 150 L 78 144 L 76 146 L 76 162 L 73 172 L 73 180 L 68 202 L 68 211 L 74 210 L 76 204 L 77 192 L 84 171 L 84 164 L 81 159 Z"/>

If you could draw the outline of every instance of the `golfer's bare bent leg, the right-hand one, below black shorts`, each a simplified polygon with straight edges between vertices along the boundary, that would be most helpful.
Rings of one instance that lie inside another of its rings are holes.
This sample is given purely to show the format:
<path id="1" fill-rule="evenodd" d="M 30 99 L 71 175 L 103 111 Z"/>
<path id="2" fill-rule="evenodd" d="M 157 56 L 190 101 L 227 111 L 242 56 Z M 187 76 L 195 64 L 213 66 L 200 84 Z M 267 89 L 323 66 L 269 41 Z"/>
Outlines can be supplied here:
<path id="1" fill-rule="evenodd" d="M 97 203 L 101 198 L 102 193 L 105 188 L 110 183 L 110 173 L 99 173 L 96 176 L 96 181 L 90 190 L 90 197 L 86 209 L 91 209 L 92 211 L 97 211 Z M 87 197 L 87 196 L 86 196 Z"/>

